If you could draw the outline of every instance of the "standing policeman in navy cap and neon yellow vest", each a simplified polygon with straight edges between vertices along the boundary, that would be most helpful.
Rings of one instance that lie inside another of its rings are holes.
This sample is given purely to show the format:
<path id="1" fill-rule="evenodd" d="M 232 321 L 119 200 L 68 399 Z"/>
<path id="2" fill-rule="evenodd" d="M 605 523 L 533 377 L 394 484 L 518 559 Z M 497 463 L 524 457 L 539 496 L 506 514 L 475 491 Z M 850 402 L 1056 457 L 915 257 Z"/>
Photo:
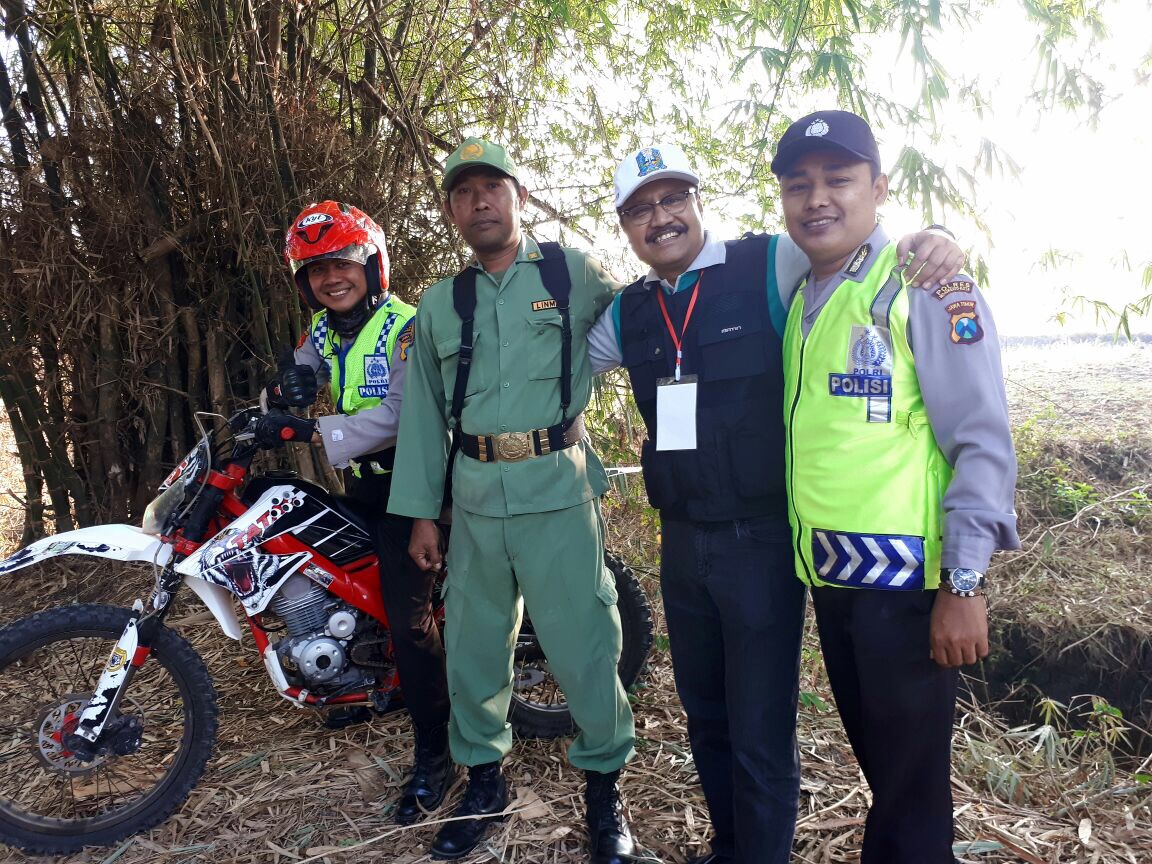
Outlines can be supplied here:
<path id="1" fill-rule="evenodd" d="M 785 331 L 789 518 L 872 790 L 861 861 L 952 864 L 958 667 L 988 652 L 990 558 L 1018 546 L 995 326 L 967 276 L 905 288 L 863 119 L 802 118 L 772 170 L 812 265 Z"/>

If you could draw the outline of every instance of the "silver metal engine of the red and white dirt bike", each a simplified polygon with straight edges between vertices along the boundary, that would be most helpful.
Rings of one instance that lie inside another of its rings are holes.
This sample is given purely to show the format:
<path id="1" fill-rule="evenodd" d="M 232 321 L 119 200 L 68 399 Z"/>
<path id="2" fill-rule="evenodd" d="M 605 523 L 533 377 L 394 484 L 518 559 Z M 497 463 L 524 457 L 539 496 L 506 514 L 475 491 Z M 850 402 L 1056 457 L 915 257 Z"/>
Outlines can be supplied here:
<path id="1" fill-rule="evenodd" d="M 359 624 L 356 609 L 300 573 L 288 577 L 270 608 L 288 630 L 276 643 L 287 673 L 320 690 L 363 681 L 364 670 L 349 662 Z"/>

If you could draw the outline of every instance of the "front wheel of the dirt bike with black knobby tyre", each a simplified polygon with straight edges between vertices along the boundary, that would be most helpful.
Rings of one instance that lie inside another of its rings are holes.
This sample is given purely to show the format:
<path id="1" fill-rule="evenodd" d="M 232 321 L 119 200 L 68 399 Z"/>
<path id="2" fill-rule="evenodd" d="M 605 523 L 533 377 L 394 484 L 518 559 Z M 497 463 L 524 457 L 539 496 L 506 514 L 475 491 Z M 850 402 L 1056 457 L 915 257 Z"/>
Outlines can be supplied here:
<path id="1" fill-rule="evenodd" d="M 215 690 L 165 627 L 105 727 L 118 740 L 98 741 L 104 753 L 90 760 L 65 745 L 129 615 L 66 606 L 0 630 L 0 842 L 37 855 L 109 846 L 167 819 L 196 786 L 215 741 Z"/>

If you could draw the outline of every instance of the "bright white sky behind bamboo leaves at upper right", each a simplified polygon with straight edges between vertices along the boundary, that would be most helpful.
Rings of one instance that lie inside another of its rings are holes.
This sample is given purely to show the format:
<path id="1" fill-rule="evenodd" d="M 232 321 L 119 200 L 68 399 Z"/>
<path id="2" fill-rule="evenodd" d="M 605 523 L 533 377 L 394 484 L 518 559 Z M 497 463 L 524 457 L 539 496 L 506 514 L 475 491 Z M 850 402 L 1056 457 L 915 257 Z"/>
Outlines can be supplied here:
<path id="1" fill-rule="evenodd" d="M 949 65 L 954 55 L 971 58 L 969 73 L 979 74 L 993 104 L 983 119 L 950 107 L 945 114 L 950 144 L 942 143 L 935 156 L 971 168 L 980 139 L 990 138 L 1021 168 L 1018 179 L 985 180 L 978 190 L 975 204 L 992 228 L 993 247 L 975 228 L 958 226 L 988 260 L 990 300 L 1003 334 L 1099 329 L 1091 311 L 1063 328 L 1052 317 L 1068 309 L 1068 295 L 1122 305 L 1147 294 L 1142 279 L 1152 263 L 1152 173 L 1146 167 L 1152 86 L 1138 85 L 1135 70 L 1152 45 L 1152 14 L 1145 0 L 1121 0 L 1106 8 L 1105 20 L 1112 35 L 1100 59 L 1089 65 L 1107 92 L 1097 128 L 1028 103 L 1037 62 L 1016 2 L 990 10 L 946 58 Z M 877 67 L 880 84 L 890 76 Z M 888 159 L 903 143 L 899 132 L 881 132 Z M 919 223 L 916 214 L 888 215 L 894 228 Z M 1048 250 L 1067 256 L 1056 270 L 1039 264 Z M 1150 332 L 1152 320 L 1134 329 Z"/>

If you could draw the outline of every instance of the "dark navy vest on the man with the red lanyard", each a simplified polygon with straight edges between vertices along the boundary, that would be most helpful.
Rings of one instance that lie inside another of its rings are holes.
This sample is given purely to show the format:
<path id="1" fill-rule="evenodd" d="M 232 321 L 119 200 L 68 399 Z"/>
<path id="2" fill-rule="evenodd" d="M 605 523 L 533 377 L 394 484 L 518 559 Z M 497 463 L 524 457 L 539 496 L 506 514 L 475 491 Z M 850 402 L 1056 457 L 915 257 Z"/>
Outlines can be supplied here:
<path id="1" fill-rule="evenodd" d="M 657 452 L 657 379 L 673 374 L 673 344 L 657 291 L 644 280 L 620 298 L 620 341 L 649 438 L 641 464 L 662 518 L 720 522 L 785 515 L 782 344 L 767 302 L 767 235 L 729 241 L 723 264 L 702 271 L 683 336 L 681 374 L 697 376 L 696 449 Z M 665 295 L 677 329 L 691 289 Z"/>

